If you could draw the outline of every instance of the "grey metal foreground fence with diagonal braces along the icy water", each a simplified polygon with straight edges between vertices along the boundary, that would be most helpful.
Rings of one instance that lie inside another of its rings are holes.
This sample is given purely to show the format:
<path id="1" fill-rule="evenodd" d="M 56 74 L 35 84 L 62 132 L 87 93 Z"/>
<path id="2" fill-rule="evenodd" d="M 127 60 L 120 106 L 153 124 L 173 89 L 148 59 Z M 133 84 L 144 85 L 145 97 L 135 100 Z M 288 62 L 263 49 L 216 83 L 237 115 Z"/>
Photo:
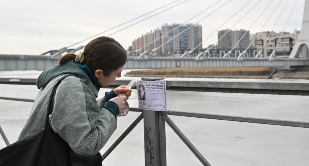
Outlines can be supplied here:
<path id="1" fill-rule="evenodd" d="M 130 80 L 116 80 L 106 88 L 114 88 L 119 85 L 126 85 Z M 226 92 L 226 93 L 252 93 L 252 94 L 277 94 L 277 95 L 305 95 L 309 96 L 309 83 L 279 83 L 279 82 L 205 82 L 205 81 L 166 81 L 167 90 L 176 91 L 194 91 L 194 92 Z M 0 78 L 0 84 L 15 85 L 35 85 L 36 79 L 9 79 Z M 0 97 L 0 100 L 14 100 L 33 102 L 29 99 L 18 99 L 9 97 Z M 141 112 L 133 123 L 124 131 L 123 134 L 109 147 L 102 155 L 104 160 L 117 145 L 130 133 L 137 124 L 144 119 L 144 151 L 145 165 L 166 166 L 166 142 L 165 142 L 165 122 L 181 138 L 187 147 L 193 152 L 203 165 L 210 165 L 204 156 L 197 150 L 190 140 L 180 131 L 180 129 L 171 121 L 168 115 L 197 117 L 205 119 L 216 119 L 225 121 L 248 122 L 268 125 L 291 126 L 309 128 L 309 122 L 286 121 L 265 118 L 226 116 L 206 113 L 189 113 L 179 111 L 157 112 L 130 108 L 130 111 Z M 0 127 L 0 133 L 6 144 L 9 145 L 3 130 Z"/>

